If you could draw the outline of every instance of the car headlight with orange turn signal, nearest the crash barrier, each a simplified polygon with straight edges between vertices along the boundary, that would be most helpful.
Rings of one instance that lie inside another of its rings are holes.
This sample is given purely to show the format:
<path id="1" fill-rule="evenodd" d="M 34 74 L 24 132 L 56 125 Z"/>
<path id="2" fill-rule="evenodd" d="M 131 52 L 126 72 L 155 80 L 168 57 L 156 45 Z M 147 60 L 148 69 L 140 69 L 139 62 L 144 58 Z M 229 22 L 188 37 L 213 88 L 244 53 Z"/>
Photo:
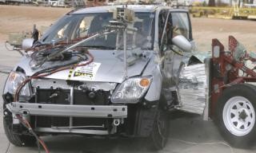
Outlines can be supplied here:
<path id="1" fill-rule="evenodd" d="M 150 87 L 152 77 L 133 77 L 125 80 L 114 91 L 113 103 L 137 103 Z"/>

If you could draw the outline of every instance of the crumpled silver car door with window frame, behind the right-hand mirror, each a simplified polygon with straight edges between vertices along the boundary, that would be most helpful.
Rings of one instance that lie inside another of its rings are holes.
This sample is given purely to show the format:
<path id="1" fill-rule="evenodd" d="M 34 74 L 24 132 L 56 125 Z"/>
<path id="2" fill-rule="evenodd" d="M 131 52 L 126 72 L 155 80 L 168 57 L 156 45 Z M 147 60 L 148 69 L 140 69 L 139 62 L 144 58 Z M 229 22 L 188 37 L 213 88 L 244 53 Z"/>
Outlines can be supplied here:
<path id="1" fill-rule="evenodd" d="M 161 14 L 159 14 L 159 18 Z M 177 35 L 186 37 L 192 41 L 190 30 L 190 19 L 187 12 L 168 11 L 165 15 L 164 24 L 159 19 L 159 48 L 162 56 L 162 74 L 164 77 L 164 88 L 173 88 L 178 85 L 179 73 L 183 65 L 183 52 L 173 45 L 172 38 Z"/>

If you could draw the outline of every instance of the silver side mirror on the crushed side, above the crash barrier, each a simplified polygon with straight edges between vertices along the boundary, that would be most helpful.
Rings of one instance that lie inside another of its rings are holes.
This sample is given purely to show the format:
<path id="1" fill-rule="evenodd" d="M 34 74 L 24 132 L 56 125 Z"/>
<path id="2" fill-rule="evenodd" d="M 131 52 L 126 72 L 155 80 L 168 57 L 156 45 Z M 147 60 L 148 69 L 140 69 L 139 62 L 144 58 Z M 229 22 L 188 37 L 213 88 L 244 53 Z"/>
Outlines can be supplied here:
<path id="1" fill-rule="evenodd" d="M 182 35 L 175 36 L 173 39 L 173 44 L 177 45 L 179 49 L 182 49 L 184 52 L 190 52 L 192 49 L 192 45 L 190 44 L 190 41 L 186 39 L 186 37 Z"/>

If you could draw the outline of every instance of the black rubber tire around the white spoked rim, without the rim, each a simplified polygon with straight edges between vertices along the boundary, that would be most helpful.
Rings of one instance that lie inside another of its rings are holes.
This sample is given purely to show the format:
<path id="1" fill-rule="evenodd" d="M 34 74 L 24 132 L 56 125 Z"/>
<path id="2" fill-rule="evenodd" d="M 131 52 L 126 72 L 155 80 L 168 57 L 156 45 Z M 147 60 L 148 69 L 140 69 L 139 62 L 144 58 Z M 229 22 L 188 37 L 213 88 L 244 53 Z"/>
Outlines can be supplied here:
<path id="1" fill-rule="evenodd" d="M 223 138 L 230 143 L 232 147 L 238 148 L 248 148 L 254 140 L 256 139 L 256 124 L 254 122 L 253 128 L 246 135 L 234 135 L 232 134 L 224 124 L 223 119 L 223 109 L 230 100 L 230 98 L 235 96 L 241 96 L 246 98 L 252 104 L 252 107 L 255 112 L 256 108 L 256 86 L 252 84 L 235 84 L 229 88 L 226 88 L 222 96 L 218 99 L 218 103 L 215 109 L 214 121 L 218 125 L 218 129 L 221 132 Z M 248 107 L 248 106 L 246 106 Z M 255 116 L 254 116 L 255 118 Z M 240 127 L 241 128 L 241 127 Z"/>

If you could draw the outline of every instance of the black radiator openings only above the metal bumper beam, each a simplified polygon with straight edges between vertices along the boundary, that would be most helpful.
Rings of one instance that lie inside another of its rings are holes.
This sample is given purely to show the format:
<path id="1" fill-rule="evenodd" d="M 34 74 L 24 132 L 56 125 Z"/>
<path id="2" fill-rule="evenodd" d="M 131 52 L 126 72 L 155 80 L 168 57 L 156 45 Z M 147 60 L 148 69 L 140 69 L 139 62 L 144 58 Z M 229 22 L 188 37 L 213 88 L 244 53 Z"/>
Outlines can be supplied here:
<path id="1" fill-rule="evenodd" d="M 106 105 L 110 103 L 110 92 L 98 90 L 74 90 L 74 104 L 78 105 Z M 70 90 L 68 89 L 38 89 L 36 103 L 70 104 Z"/>

